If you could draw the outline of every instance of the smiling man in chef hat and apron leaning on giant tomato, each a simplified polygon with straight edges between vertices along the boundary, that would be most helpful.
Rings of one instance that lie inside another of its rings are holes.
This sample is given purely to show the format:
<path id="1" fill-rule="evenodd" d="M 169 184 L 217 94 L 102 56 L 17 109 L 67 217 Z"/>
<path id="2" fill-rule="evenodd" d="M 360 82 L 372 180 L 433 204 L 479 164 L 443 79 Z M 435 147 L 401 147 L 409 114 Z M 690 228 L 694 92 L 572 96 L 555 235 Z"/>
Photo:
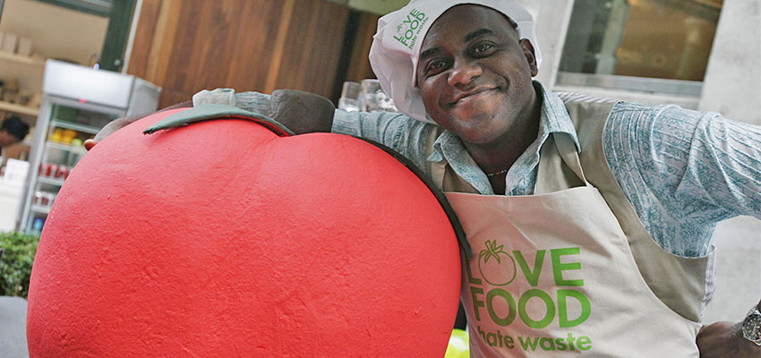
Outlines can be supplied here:
<path id="1" fill-rule="evenodd" d="M 715 222 L 761 217 L 761 129 L 564 102 L 532 81 L 541 55 L 521 4 L 460 3 L 414 0 L 381 18 L 371 64 L 406 115 L 337 111 L 333 131 L 397 149 L 447 192 L 477 253 L 461 294 L 471 353 L 759 356 L 754 314 L 700 320 Z M 261 112 L 267 100 L 209 98 L 194 104 Z"/>

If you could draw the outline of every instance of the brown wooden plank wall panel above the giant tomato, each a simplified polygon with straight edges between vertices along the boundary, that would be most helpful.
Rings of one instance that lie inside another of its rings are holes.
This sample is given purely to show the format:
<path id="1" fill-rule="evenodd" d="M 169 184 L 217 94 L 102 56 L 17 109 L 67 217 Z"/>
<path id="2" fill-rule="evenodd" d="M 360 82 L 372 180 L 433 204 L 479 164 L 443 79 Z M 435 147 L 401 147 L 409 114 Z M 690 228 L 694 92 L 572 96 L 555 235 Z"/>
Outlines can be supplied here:
<path id="1" fill-rule="evenodd" d="M 144 0 L 127 72 L 165 89 L 160 107 L 218 87 L 330 98 L 348 14 L 324 0 Z"/>

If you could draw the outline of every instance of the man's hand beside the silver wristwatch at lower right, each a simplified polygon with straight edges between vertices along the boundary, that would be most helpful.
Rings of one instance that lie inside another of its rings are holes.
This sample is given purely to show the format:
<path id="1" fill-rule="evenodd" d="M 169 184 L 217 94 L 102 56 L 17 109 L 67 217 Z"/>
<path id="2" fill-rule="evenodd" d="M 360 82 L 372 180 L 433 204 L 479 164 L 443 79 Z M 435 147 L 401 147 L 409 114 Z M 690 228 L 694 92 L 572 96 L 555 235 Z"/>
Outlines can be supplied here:
<path id="1" fill-rule="evenodd" d="M 697 348 L 701 358 L 761 357 L 761 346 L 742 337 L 740 324 L 727 321 L 700 328 L 697 332 Z"/>

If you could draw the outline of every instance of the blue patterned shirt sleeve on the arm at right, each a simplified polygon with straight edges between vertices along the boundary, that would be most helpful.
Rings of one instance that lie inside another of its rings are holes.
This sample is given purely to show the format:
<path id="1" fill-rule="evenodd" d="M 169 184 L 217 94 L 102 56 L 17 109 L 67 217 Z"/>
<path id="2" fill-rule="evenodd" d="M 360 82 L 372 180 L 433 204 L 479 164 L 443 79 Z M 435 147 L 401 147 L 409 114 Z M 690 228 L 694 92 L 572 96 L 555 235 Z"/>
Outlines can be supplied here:
<path id="1" fill-rule="evenodd" d="M 605 127 L 611 172 L 665 250 L 710 248 L 725 218 L 761 218 L 761 127 L 677 106 L 619 104 Z"/>

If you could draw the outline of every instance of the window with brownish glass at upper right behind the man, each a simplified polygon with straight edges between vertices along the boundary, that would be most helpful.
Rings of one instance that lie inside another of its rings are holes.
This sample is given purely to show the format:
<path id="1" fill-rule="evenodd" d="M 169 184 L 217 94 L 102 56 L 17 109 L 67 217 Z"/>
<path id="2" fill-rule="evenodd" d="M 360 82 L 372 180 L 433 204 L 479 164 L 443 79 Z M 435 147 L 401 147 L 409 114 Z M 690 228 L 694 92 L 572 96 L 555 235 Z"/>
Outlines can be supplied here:
<path id="1" fill-rule="evenodd" d="M 699 95 L 722 4 L 576 0 L 558 83 Z"/>

